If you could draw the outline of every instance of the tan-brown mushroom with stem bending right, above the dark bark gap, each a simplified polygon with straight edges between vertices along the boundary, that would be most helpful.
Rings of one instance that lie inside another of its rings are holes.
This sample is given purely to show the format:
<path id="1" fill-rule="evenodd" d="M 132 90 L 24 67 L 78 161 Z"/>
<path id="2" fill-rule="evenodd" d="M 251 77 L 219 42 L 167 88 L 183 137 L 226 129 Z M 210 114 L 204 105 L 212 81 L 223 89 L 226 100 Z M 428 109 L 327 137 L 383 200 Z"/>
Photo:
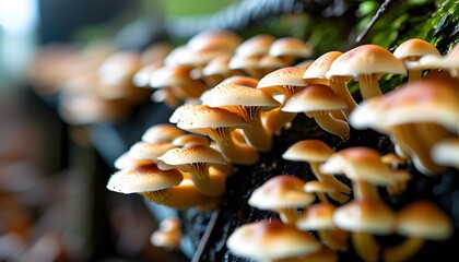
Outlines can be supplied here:
<path id="1" fill-rule="evenodd" d="M 348 122 L 331 117 L 330 112 L 348 108 L 342 99 L 328 85 L 310 84 L 298 91 L 284 104 L 282 111 L 304 112 L 314 118 L 325 131 L 339 135 L 342 140 L 349 138 Z"/>

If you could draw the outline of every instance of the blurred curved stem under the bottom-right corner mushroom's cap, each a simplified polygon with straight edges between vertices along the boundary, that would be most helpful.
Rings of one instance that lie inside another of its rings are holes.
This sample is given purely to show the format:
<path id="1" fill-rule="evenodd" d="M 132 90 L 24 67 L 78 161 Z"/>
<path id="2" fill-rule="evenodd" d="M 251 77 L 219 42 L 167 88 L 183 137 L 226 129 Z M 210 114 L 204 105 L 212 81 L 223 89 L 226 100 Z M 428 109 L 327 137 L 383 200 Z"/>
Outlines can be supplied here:
<path id="1" fill-rule="evenodd" d="M 391 262 L 408 261 L 421 250 L 424 242 L 424 238 L 408 237 L 401 243 L 387 248 L 382 252 L 382 260 Z"/>

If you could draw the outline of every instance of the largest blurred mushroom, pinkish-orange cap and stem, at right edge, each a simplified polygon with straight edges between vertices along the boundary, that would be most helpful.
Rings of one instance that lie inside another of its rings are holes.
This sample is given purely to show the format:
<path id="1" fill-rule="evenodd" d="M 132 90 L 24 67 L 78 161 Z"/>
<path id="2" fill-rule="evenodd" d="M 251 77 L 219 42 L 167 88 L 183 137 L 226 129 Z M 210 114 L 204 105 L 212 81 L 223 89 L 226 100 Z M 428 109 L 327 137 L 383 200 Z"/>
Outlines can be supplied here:
<path id="1" fill-rule="evenodd" d="M 361 103 L 350 123 L 391 135 L 399 155 L 407 155 L 425 175 L 445 168 L 432 160 L 431 148 L 456 133 L 459 122 L 459 92 L 447 81 L 423 80 L 399 86 L 382 97 Z M 397 148 L 397 147 L 396 147 Z"/>

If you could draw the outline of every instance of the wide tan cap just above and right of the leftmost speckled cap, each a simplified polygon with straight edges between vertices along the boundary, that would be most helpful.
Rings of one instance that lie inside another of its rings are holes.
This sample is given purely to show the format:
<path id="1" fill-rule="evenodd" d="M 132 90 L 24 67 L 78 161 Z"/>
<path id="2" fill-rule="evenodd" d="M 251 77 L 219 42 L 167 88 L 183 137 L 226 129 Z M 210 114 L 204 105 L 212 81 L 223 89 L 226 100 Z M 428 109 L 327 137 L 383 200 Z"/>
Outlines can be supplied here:
<path id="1" fill-rule="evenodd" d="M 157 159 L 169 166 L 180 166 L 193 163 L 207 163 L 211 165 L 226 164 L 226 159 L 219 151 L 200 144 L 172 148 Z"/>

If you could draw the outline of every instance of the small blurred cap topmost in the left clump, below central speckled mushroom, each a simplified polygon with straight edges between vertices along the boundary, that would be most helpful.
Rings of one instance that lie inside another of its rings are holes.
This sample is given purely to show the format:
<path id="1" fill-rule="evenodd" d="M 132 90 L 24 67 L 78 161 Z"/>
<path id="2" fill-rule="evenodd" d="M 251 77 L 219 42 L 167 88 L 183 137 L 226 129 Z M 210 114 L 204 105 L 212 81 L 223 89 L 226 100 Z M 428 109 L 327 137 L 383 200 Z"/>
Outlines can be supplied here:
<path id="1" fill-rule="evenodd" d="M 186 134 L 185 130 L 177 128 L 175 124 L 156 123 L 143 132 L 141 140 L 149 143 L 170 142 L 183 134 Z"/>

